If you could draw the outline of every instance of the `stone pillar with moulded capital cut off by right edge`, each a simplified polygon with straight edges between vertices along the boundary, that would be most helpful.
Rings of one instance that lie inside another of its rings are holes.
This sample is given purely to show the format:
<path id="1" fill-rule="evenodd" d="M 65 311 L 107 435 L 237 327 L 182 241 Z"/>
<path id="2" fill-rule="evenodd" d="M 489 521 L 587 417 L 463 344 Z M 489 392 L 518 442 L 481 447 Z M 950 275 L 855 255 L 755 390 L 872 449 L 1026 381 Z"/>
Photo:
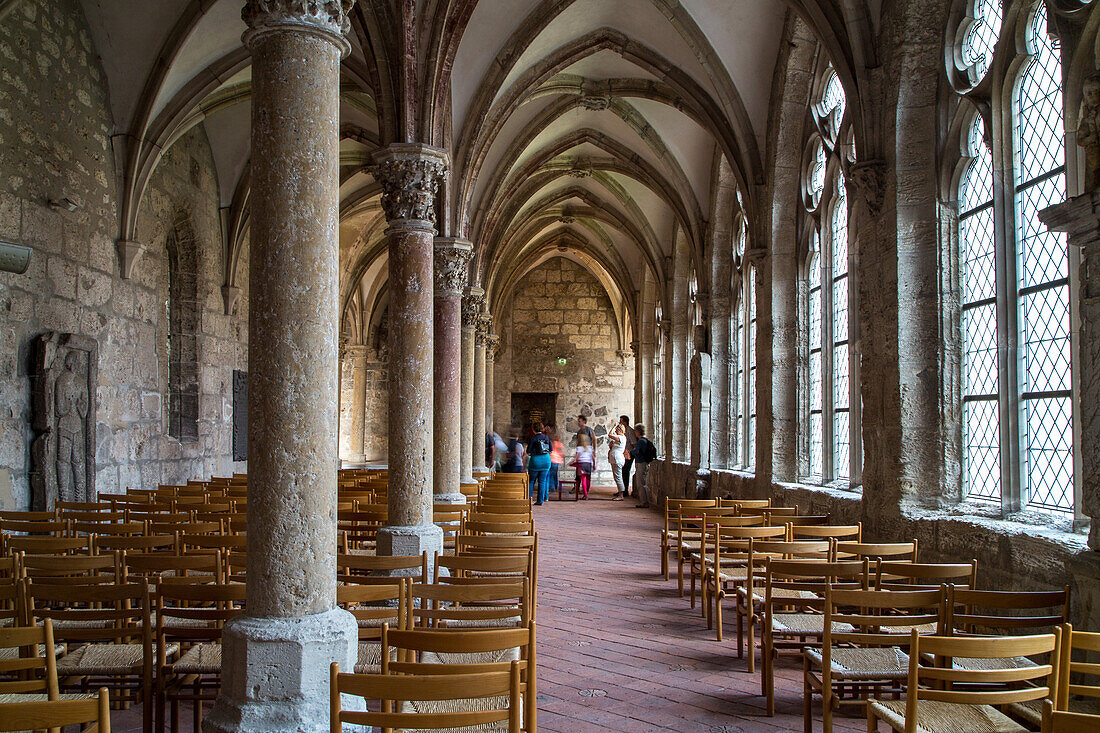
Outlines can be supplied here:
<path id="1" fill-rule="evenodd" d="M 1077 527 L 1088 524 L 1089 548 L 1100 550 L 1100 461 L 1096 460 L 1096 456 L 1100 456 L 1100 190 L 1056 204 L 1040 211 L 1038 216 L 1052 231 L 1067 232 L 1070 254 L 1077 254 L 1070 258 L 1070 266 L 1080 262 L 1077 270 L 1079 292 L 1077 302 L 1071 305 L 1071 310 L 1076 306 L 1078 313 L 1070 321 L 1070 328 L 1078 330 L 1080 352 L 1074 380 L 1080 395 L 1074 406 L 1080 438 L 1074 449 L 1084 457 L 1078 462 L 1080 475 L 1075 477 L 1078 495 L 1074 502 L 1074 524 Z M 1080 248 L 1079 253 L 1074 252 L 1076 248 Z M 1090 588 L 1089 592 L 1096 594 L 1094 589 L 1100 587 L 1096 581 L 1096 557 L 1077 565 L 1091 566 L 1090 582 L 1081 583 L 1081 588 Z M 1071 569 L 1078 571 L 1076 567 Z M 1100 609 L 1100 603 L 1094 608 Z"/>

